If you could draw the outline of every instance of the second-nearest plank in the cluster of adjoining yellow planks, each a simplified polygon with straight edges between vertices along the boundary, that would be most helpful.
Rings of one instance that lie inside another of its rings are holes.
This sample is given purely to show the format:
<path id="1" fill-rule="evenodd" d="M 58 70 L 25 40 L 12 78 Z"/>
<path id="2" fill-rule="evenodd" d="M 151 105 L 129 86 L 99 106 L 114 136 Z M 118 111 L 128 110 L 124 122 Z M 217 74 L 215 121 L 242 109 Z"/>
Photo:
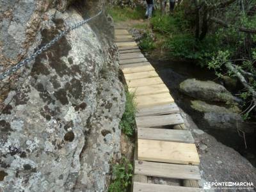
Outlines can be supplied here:
<path id="1" fill-rule="evenodd" d="M 139 74 L 139 72 L 134 74 Z M 132 75 L 132 74 L 126 74 L 126 76 L 127 75 Z M 138 79 L 140 79 L 140 77 L 138 77 Z M 148 86 L 139 86 L 139 87 L 129 88 L 129 92 L 135 93 L 136 96 L 141 96 L 141 95 L 152 95 L 152 94 L 158 94 L 158 93 L 169 93 L 169 90 L 165 84 L 150 84 Z"/>

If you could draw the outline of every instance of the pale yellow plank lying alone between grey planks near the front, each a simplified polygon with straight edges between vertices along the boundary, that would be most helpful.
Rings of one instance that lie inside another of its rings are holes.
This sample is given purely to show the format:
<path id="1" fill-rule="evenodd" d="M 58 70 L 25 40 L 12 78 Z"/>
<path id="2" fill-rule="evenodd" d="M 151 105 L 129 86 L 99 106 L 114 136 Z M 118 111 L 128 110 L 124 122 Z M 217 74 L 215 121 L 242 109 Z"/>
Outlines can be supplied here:
<path id="1" fill-rule="evenodd" d="M 138 140 L 138 160 L 177 164 L 199 164 L 195 144 Z"/>

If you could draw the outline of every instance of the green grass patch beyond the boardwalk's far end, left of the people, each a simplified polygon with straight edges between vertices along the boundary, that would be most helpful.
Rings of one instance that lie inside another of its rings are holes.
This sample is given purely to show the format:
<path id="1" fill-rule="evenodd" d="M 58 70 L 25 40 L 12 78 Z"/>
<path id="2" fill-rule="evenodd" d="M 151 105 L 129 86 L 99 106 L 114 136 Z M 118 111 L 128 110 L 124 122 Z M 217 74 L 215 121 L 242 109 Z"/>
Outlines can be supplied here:
<path id="1" fill-rule="evenodd" d="M 145 10 L 142 6 L 136 6 L 136 8 L 121 8 L 120 6 L 113 6 L 107 8 L 107 12 L 115 22 L 125 21 L 129 19 L 143 19 Z"/>

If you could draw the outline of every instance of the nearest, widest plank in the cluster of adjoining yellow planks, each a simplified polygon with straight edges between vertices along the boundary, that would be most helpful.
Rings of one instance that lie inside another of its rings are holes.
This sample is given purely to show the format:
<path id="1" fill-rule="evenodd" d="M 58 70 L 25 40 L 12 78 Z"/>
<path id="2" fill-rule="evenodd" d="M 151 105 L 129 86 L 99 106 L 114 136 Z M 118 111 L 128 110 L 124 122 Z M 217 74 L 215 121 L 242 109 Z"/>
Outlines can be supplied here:
<path id="1" fill-rule="evenodd" d="M 172 96 L 169 93 L 136 96 L 134 100 L 137 104 L 138 109 L 149 108 L 163 104 L 171 104 L 172 102 L 174 102 Z"/>

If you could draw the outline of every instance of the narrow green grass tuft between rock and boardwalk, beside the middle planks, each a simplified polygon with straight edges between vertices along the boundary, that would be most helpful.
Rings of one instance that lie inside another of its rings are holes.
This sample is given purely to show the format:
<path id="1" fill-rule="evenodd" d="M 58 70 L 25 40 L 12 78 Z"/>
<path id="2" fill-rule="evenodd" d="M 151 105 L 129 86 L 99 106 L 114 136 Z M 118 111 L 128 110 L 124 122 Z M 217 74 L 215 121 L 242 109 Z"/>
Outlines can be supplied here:
<path id="1" fill-rule="evenodd" d="M 134 103 L 134 93 L 129 93 L 127 88 L 125 90 L 126 102 L 125 102 L 125 111 L 120 122 L 120 128 L 122 132 L 127 136 L 132 136 L 135 130 L 135 113 L 136 113 L 136 104 Z"/>

